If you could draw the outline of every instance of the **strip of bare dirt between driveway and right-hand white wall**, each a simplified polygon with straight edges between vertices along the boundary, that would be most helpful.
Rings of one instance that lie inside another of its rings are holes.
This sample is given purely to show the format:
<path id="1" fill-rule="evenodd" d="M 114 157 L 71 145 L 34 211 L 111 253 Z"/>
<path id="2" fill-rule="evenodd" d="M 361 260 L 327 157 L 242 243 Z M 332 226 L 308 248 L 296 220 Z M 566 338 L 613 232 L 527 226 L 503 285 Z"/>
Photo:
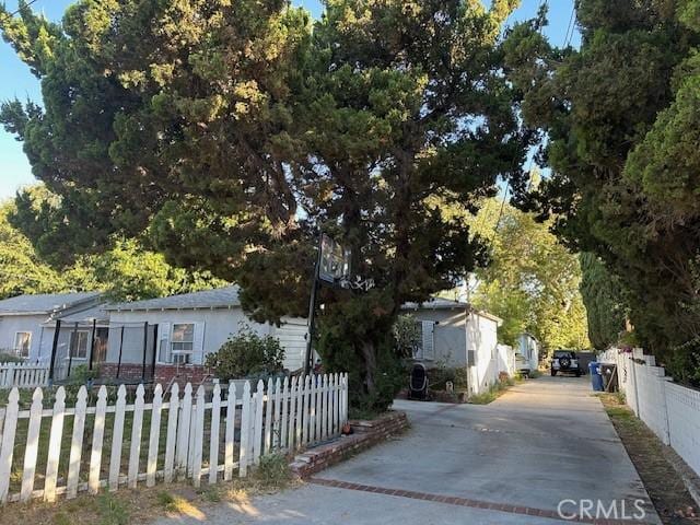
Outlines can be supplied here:
<path id="1" fill-rule="evenodd" d="M 700 512 L 678 472 L 666 459 L 664 445 L 616 394 L 598 396 L 639 472 L 662 522 L 700 524 Z"/>

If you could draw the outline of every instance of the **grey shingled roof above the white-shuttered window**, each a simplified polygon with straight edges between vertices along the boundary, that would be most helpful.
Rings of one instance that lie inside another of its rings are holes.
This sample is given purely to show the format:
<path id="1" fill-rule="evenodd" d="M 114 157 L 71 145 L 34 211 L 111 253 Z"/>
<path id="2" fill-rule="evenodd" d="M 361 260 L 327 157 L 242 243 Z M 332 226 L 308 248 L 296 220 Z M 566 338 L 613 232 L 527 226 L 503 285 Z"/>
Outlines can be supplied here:
<path id="1" fill-rule="evenodd" d="M 230 308 L 232 306 L 241 306 L 238 287 L 235 284 L 215 290 L 170 295 L 167 298 L 109 304 L 105 306 L 105 310 L 133 312 L 149 310 Z"/>

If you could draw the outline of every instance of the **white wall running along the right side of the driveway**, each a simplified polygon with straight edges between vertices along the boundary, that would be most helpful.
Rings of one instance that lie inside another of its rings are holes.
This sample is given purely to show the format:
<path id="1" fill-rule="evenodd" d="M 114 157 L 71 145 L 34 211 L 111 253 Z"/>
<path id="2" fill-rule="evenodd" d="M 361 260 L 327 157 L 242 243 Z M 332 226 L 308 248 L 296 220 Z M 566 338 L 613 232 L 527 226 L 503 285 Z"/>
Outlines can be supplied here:
<path id="1" fill-rule="evenodd" d="M 700 390 L 673 383 L 653 355 L 610 349 L 598 355 L 617 364 L 618 383 L 638 418 L 700 476 Z"/>

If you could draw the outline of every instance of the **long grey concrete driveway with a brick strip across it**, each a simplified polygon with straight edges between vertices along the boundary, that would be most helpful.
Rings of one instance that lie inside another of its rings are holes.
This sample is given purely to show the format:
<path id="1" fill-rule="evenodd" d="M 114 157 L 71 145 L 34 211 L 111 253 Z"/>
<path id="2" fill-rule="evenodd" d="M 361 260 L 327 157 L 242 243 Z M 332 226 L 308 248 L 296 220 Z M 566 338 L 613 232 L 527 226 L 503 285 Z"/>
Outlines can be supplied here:
<path id="1" fill-rule="evenodd" d="M 607 512 L 622 523 L 643 508 L 645 517 L 632 523 L 661 523 L 588 385 L 585 377 L 541 377 L 487 406 L 396 401 L 411 422 L 405 435 L 300 488 L 213 509 L 207 521 L 557 524 L 571 523 L 559 518 L 562 500 L 561 511 L 578 521 L 586 521 L 581 505 L 595 515 L 599 500 L 598 517 Z"/>

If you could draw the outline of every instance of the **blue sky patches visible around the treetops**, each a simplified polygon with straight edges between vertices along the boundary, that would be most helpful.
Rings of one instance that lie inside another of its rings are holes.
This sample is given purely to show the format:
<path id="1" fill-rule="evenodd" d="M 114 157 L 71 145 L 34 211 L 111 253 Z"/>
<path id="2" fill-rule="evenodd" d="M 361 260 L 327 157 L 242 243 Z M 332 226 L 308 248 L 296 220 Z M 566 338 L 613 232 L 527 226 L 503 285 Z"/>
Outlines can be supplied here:
<path id="1" fill-rule="evenodd" d="M 542 0 L 522 0 L 521 7 L 513 13 L 510 23 L 533 18 Z M 66 8 L 73 0 L 36 0 L 33 9 L 43 12 L 50 20 L 60 20 Z M 314 16 L 320 14 L 320 3 L 317 0 L 294 0 L 298 5 L 307 8 Z M 487 3 L 489 1 L 487 0 Z M 16 0 L 7 0 L 8 9 L 16 8 Z M 556 44 L 563 44 L 569 21 L 573 10 L 573 0 L 553 0 L 549 2 L 549 26 L 546 34 Z M 575 34 L 573 44 L 578 45 L 579 35 Z M 9 44 L 0 40 L 0 101 L 14 98 L 21 101 L 27 97 L 39 102 L 42 91 L 39 82 L 28 68 L 14 55 Z M 22 144 L 13 136 L 0 129 L 0 199 L 13 196 L 23 185 L 32 184 L 32 168 L 27 162 Z"/>

